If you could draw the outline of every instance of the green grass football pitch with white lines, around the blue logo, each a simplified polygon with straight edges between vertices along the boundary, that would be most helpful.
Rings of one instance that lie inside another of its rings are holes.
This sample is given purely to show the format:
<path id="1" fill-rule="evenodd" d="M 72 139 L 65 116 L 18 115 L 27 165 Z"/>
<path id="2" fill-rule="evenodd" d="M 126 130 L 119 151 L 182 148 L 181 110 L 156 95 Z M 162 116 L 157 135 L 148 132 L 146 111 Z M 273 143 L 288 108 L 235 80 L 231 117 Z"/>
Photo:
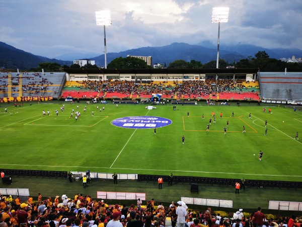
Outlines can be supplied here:
<path id="1" fill-rule="evenodd" d="M 60 107 L 63 104 L 62 112 Z M 81 117 L 75 121 L 75 114 L 72 118 L 70 114 L 72 108 L 78 111 L 77 105 Z M 177 105 L 173 110 L 173 105 L 146 109 L 143 104 L 119 104 L 117 107 L 96 103 L 87 105 L 84 111 L 85 106 L 84 101 L 74 104 L 24 102 L 21 107 L 19 103 L 17 107 L 14 103 L 1 103 L 0 167 L 302 180 L 302 139 L 294 139 L 296 132 L 302 129 L 302 112 L 294 112 L 292 107 L 264 103 L 261 106 L 256 103 L 207 106 L 205 102 L 199 102 L 198 105 Z M 268 113 L 270 107 L 271 113 Z M 46 116 L 42 115 L 43 110 Z M 220 112 L 223 114 L 221 119 Z M 131 116 L 166 118 L 172 124 L 157 128 L 156 135 L 153 127 L 129 129 L 112 124 L 115 119 Z M 206 131 L 210 118 L 212 123 Z M 266 120 L 268 130 L 265 136 Z M 226 126 L 227 121 L 229 126 Z M 246 132 L 243 132 L 243 126 Z M 182 136 L 185 137 L 184 144 Z M 258 158 L 260 150 L 264 153 L 261 161 Z"/>

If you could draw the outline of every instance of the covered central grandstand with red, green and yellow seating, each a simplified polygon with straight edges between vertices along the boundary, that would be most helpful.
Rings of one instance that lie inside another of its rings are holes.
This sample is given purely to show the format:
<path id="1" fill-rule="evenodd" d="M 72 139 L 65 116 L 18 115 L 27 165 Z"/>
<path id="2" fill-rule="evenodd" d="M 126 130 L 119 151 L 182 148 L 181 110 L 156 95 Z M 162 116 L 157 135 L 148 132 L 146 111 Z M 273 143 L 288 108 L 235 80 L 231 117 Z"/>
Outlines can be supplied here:
<path id="1" fill-rule="evenodd" d="M 62 97 L 259 100 L 258 69 L 66 69 Z"/>

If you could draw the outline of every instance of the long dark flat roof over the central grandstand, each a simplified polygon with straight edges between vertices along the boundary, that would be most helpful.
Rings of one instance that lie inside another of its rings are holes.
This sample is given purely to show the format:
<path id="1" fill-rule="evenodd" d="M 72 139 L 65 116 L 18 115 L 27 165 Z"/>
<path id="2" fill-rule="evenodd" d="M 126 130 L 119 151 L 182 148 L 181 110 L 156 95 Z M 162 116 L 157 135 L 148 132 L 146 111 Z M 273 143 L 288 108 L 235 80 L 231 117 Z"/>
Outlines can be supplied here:
<path id="1" fill-rule="evenodd" d="M 256 74 L 259 69 L 63 69 L 70 74 Z"/>

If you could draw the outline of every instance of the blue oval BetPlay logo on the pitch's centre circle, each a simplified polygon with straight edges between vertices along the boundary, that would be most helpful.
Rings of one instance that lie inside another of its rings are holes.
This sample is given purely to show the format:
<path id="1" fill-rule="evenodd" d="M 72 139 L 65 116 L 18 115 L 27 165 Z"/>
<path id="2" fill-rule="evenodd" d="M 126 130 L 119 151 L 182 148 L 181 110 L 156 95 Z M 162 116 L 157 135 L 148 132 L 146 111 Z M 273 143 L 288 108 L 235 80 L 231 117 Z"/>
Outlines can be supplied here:
<path id="1" fill-rule="evenodd" d="M 172 121 L 167 118 L 154 116 L 133 116 L 115 119 L 111 124 L 128 129 L 150 129 L 168 126 L 172 124 Z"/>

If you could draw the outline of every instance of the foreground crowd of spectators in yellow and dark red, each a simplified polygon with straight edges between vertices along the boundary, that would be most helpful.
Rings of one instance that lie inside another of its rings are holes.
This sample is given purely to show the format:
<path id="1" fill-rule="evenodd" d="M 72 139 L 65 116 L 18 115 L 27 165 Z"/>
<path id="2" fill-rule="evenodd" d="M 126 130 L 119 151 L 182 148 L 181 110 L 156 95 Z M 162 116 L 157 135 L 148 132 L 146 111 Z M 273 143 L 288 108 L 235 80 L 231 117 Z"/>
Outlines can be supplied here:
<path id="1" fill-rule="evenodd" d="M 268 219 L 261 207 L 249 215 L 239 209 L 232 217 L 221 217 L 210 207 L 205 211 L 191 211 L 183 201 L 164 207 L 162 203 L 155 206 L 154 199 L 143 206 L 138 199 L 137 205 L 121 206 L 108 205 L 90 195 L 42 199 L 40 193 L 38 201 L 33 201 L 31 196 L 27 201 L 19 196 L 13 199 L 12 195 L 0 195 L 0 200 L 0 227 L 163 227 L 170 220 L 172 227 L 302 227 L 302 219 L 294 215 Z"/>

